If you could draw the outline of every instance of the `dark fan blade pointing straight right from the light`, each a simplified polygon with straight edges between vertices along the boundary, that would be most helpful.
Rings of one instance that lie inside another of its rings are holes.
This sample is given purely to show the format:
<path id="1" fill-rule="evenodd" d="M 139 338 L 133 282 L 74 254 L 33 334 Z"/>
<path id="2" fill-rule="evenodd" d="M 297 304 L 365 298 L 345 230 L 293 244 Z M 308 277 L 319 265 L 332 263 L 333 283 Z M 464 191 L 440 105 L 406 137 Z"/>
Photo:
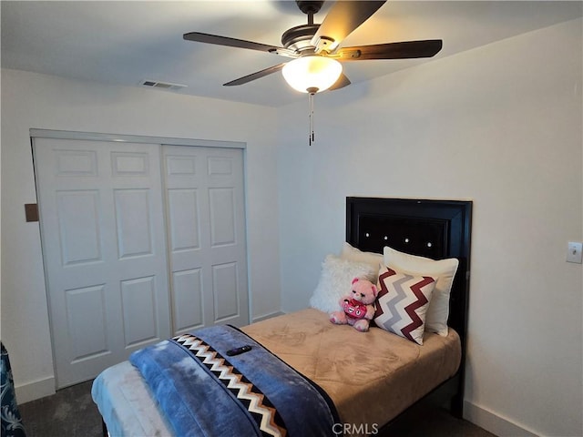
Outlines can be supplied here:
<path id="1" fill-rule="evenodd" d="M 375 44 L 373 46 L 343 47 L 334 54 L 341 61 L 368 59 L 409 59 L 435 56 L 443 46 L 441 39 L 405 41 L 403 43 Z"/>

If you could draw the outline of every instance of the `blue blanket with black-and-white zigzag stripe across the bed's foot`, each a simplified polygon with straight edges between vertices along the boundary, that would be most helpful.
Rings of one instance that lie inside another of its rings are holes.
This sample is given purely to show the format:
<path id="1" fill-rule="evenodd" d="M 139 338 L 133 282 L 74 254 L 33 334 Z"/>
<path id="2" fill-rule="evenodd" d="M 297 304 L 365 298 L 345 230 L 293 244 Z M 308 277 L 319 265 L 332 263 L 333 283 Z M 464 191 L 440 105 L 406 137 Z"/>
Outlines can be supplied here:
<path id="1" fill-rule="evenodd" d="M 227 356 L 243 345 L 251 351 Z M 161 341 L 129 361 L 180 437 L 332 436 L 340 422 L 320 387 L 231 326 Z"/>

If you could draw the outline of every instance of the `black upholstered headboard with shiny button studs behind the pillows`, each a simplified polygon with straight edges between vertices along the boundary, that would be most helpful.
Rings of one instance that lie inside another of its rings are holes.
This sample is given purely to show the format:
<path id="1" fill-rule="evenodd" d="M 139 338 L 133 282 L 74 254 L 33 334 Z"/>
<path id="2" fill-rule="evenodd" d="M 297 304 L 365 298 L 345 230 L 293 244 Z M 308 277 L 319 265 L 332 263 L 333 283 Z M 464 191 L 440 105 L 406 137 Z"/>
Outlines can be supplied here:
<path id="1" fill-rule="evenodd" d="M 472 202 L 410 198 L 346 198 L 346 241 L 383 253 L 384 246 L 431 259 L 457 258 L 448 324 L 465 351 Z"/>

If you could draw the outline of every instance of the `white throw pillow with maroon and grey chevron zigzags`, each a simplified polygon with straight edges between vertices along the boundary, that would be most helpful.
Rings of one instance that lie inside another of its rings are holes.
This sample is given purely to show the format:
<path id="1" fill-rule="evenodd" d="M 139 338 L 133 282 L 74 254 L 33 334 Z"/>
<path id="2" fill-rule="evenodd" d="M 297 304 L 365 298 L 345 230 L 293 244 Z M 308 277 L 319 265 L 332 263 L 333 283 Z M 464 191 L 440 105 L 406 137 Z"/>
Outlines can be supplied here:
<path id="1" fill-rule="evenodd" d="M 425 313 L 436 279 L 382 267 L 374 322 L 379 328 L 423 344 Z"/>

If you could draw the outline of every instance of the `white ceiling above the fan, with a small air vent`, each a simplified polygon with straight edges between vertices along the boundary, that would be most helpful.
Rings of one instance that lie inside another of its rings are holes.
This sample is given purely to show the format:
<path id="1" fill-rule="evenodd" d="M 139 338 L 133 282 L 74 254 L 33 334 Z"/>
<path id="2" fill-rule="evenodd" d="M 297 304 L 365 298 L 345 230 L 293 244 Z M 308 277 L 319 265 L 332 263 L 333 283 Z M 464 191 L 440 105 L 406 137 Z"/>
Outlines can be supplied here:
<path id="1" fill-rule="evenodd" d="M 321 23 L 326 2 L 314 21 Z M 280 73 L 242 86 L 223 83 L 289 58 L 185 41 L 205 32 L 281 46 L 281 34 L 307 23 L 293 1 L 5 1 L 2 67 L 106 84 L 144 79 L 187 87 L 175 92 L 279 107 L 305 98 Z M 432 59 L 582 16 L 583 2 L 388 1 L 343 46 L 443 39 Z M 344 64 L 353 83 L 431 60 Z M 152 89 L 152 92 L 161 92 Z M 342 93 L 343 90 L 330 91 Z"/>

